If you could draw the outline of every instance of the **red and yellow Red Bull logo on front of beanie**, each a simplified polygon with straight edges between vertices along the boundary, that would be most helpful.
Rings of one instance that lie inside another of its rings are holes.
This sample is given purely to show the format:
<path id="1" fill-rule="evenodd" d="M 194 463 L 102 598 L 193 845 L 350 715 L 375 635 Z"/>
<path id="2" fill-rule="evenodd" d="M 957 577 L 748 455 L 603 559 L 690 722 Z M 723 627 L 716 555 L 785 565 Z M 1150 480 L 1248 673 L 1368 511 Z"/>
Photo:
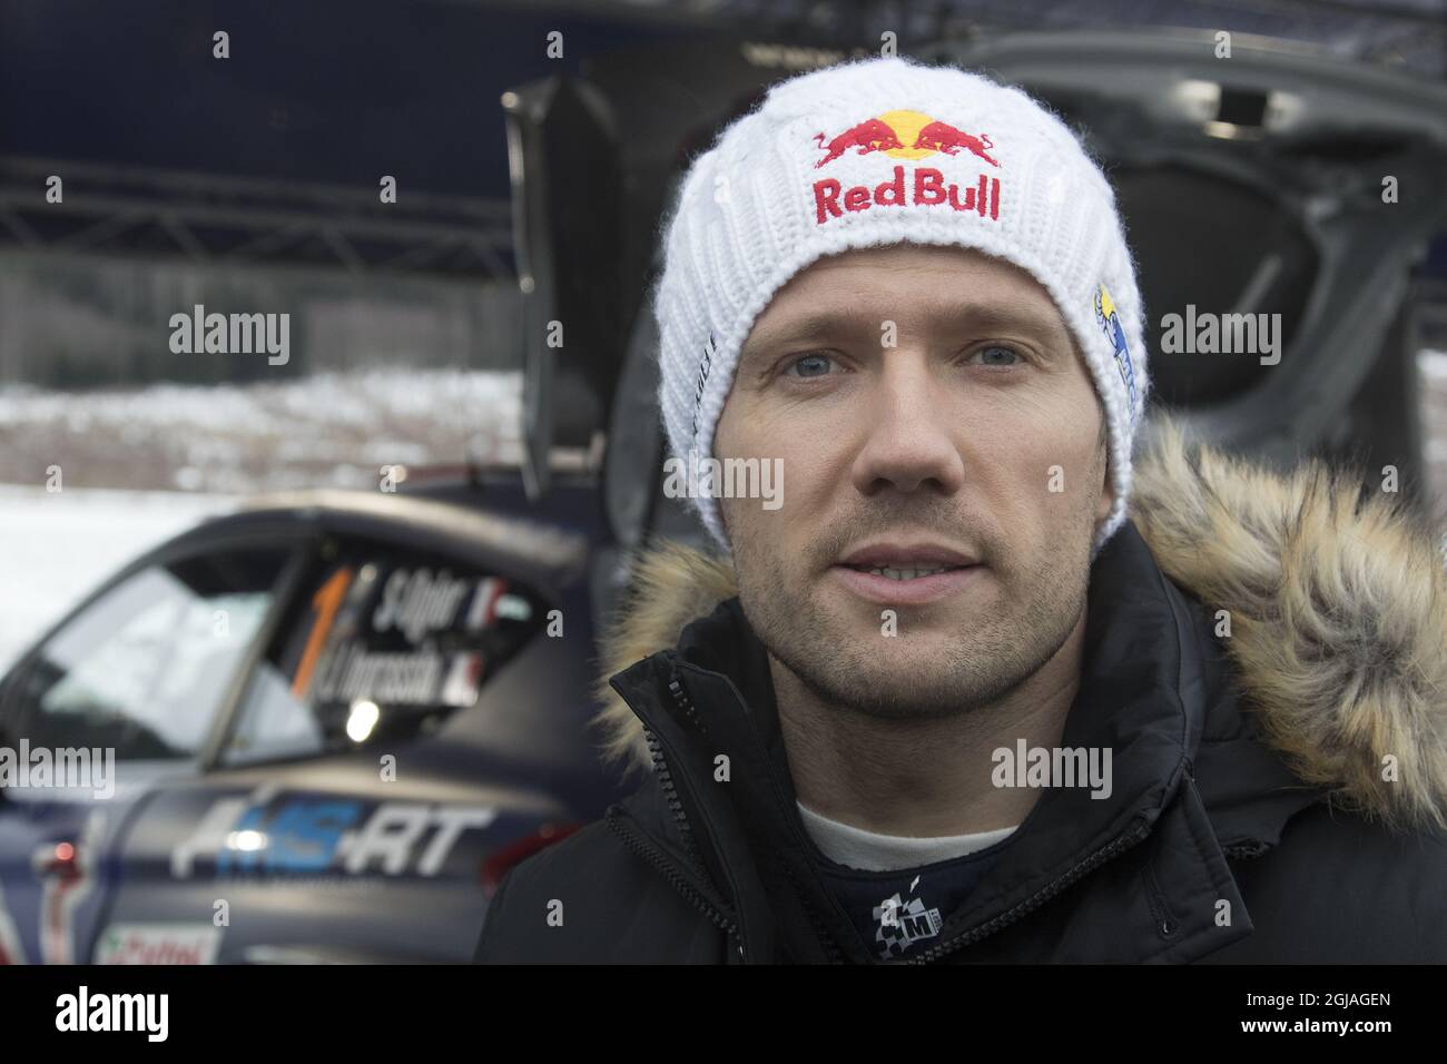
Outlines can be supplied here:
<path id="1" fill-rule="evenodd" d="M 922 111 L 886 111 L 832 138 L 816 133 L 815 140 L 823 152 L 815 169 L 851 151 L 855 155 L 878 152 L 904 161 L 967 152 L 990 166 L 1000 168 L 1000 161 L 990 153 L 994 151 L 994 142 L 987 135 L 967 133 Z M 873 187 L 864 184 L 845 188 L 833 178 L 822 178 L 815 181 L 813 194 L 815 221 L 820 226 L 831 219 L 844 217 L 845 211 L 906 204 L 926 207 L 948 204 L 951 210 L 974 211 L 981 219 L 1000 217 L 1000 178 L 981 174 L 975 184 L 961 187 L 946 181 L 943 171 L 935 166 L 912 166 L 906 177 L 906 168 L 897 165 L 890 180 Z"/>

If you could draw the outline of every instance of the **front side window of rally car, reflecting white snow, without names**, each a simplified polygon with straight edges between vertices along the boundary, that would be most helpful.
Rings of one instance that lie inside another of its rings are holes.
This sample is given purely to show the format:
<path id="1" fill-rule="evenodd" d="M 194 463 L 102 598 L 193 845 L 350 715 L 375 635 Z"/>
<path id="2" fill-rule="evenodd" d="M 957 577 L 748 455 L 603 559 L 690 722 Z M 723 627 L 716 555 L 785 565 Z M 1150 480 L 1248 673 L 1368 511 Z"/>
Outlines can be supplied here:
<path id="1" fill-rule="evenodd" d="M 72 617 L 19 677 L 19 735 L 111 747 L 119 760 L 195 756 L 288 559 L 232 550 L 148 566 Z"/>

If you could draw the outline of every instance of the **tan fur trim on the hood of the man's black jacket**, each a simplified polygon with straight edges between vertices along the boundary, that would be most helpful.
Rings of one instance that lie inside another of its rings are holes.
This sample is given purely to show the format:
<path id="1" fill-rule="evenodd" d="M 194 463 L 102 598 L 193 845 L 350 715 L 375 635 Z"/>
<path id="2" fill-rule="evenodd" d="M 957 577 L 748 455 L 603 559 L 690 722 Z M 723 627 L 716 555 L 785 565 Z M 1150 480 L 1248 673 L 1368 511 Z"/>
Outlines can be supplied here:
<path id="1" fill-rule="evenodd" d="M 1353 473 L 1270 472 L 1171 421 L 1136 466 L 1130 517 L 1166 576 L 1229 611 L 1243 701 L 1304 783 L 1393 827 L 1447 827 L 1447 569 L 1420 518 Z M 635 559 L 603 640 L 611 757 L 648 761 L 609 677 L 737 594 L 721 557 L 661 543 Z"/>

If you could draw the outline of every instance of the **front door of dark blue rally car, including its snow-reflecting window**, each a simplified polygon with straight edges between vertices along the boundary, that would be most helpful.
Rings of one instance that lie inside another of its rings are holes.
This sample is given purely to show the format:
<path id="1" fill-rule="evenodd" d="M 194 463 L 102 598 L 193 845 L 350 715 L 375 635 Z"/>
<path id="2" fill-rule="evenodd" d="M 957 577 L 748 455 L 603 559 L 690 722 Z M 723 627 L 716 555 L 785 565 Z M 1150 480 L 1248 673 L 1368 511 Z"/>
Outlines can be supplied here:
<path id="1" fill-rule="evenodd" d="M 152 788 L 197 774 L 292 557 L 162 547 L 0 683 L 0 961 L 88 960 L 117 840 Z"/>

